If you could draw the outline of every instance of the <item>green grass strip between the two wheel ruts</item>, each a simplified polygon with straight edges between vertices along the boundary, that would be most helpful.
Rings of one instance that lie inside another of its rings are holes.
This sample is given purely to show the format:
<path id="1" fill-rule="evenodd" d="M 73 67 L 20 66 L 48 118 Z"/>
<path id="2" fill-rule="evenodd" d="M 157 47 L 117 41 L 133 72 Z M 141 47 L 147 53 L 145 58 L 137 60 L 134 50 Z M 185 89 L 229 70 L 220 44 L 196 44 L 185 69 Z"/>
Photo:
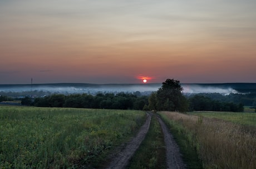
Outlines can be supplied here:
<path id="1" fill-rule="evenodd" d="M 149 132 L 126 167 L 126 169 L 146 168 L 166 168 L 164 134 L 156 115 L 152 115 Z"/>

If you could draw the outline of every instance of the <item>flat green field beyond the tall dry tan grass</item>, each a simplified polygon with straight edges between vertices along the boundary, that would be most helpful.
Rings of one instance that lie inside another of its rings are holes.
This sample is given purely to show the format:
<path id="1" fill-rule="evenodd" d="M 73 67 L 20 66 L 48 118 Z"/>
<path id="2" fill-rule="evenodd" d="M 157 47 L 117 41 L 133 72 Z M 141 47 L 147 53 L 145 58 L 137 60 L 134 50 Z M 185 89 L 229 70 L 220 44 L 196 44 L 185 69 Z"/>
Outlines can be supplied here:
<path id="1" fill-rule="evenodd" d="M 256 113 L 254 112 L 192 112 L 191 115 L 201 115 L 209 118 L 216 118 L 231 121 L 235 124 L 256 126 Z"/>

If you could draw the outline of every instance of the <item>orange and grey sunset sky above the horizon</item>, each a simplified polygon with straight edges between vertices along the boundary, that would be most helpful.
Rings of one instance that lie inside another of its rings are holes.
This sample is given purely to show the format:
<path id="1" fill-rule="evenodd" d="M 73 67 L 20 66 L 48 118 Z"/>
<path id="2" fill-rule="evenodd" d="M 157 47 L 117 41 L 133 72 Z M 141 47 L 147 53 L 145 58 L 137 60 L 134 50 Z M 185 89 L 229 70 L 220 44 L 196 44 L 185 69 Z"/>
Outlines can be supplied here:
<path id="1" fill-rule="evenodd" d="M 0 0 L 0 84 L 256 83 L 255 0 Z"/>

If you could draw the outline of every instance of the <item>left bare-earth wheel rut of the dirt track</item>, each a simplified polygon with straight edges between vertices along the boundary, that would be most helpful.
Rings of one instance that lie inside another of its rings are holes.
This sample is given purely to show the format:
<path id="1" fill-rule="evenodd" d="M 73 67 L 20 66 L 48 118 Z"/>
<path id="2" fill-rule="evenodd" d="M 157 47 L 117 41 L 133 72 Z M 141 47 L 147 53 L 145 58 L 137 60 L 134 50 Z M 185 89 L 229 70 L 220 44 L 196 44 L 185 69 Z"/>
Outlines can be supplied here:
<path id="1" fill-rule="evenodd" d="M 144 140 L 147 131 L 149 131 L 151 113 L 147 113 L 147 119 L 145 124 L 141 127 L 140 131 L 125 147 L 122 152 L 116 154 L 114 159 L 110 162 L 107 169 L 123 169 L 129 163 L 130 158 L 134 155 L 134 152 L 140 146 L 141 142 Z"/>

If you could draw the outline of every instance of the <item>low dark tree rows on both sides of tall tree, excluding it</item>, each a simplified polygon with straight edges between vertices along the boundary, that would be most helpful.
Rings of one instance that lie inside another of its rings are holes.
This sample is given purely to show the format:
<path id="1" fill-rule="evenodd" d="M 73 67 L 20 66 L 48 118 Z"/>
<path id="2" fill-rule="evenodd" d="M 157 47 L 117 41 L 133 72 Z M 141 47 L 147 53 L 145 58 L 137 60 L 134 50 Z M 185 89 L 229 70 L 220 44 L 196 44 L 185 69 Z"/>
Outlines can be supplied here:
<path id="1" fill-rule="evenodd" d="M 137 93 L 139 94 L 139 93 Z M 3 96 L 0 97 L 0 101 Z M 185 98 L 189 111 L 243 111 L 243 106 L 256 107 L 256 94 L 195 94 Z M 5 100 L 7 100 L 5 98 Z M 11 100 L 11 99 L 8 99 Z M 77 107 L 92 109 L 149 110 L 149 96 L 129 93 L 102 94 L 53 94 L 43 98 L 23 98 L 22 105 L 39 107 Z"/>

